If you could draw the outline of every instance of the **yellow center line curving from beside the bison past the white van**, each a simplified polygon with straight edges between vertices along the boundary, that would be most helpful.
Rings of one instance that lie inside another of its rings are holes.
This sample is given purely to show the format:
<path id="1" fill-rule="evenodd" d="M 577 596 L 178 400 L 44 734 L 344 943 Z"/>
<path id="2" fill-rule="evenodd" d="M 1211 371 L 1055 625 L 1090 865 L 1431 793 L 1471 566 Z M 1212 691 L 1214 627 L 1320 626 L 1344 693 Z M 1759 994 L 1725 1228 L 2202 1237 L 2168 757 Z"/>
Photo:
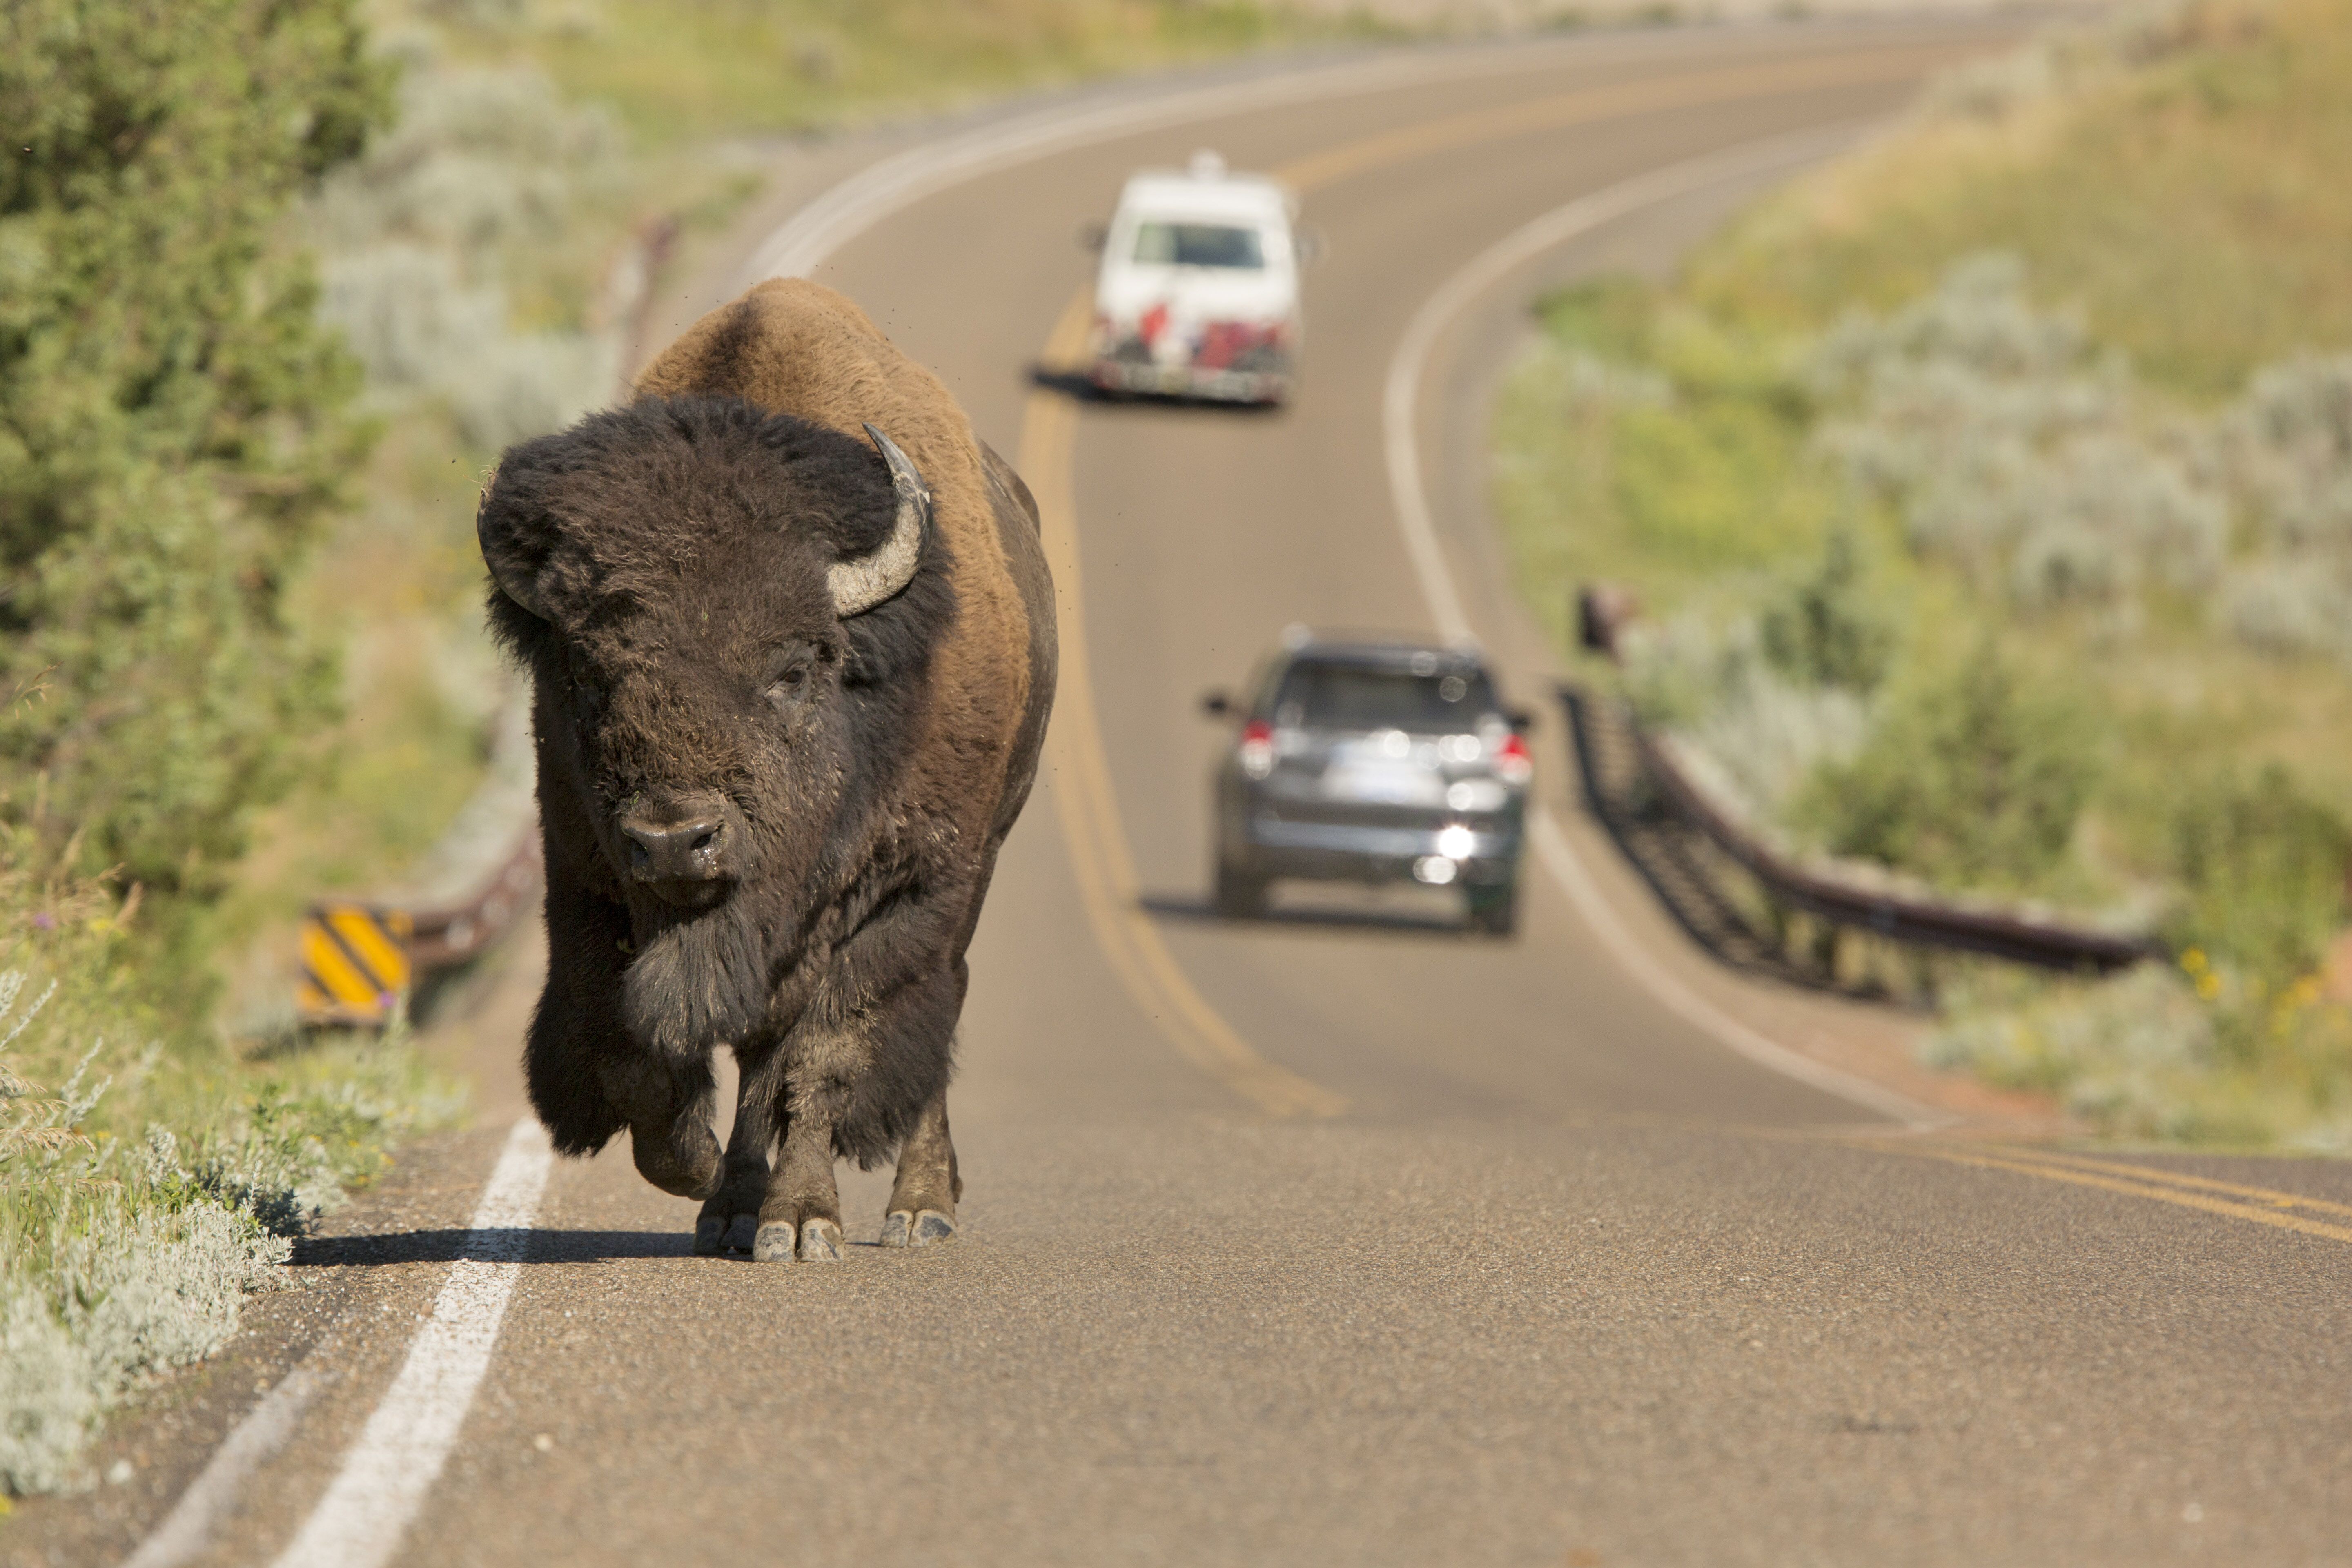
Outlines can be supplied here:
<path id="1" fill-rule="evenodd" d="M 1952 47 L 1933 45 L 1867 49 L 1830 61 L 1693 71 L 1668 82 L 1555 94 L 1348 141 L 1279 165 L 1275 176 L 1296 190 L 1310 190 L 1409 158 L 1538 129 L 1656 113 L 1663 108 L 1696 108 L 1762 96 L 1766 92 L 1910 78 L 1952 52 Z M 1040 355 L 1044 367 L 1065 369 L 1084 360 L 1091 315 L 1089 289 L 1080 289 L 1070 296 L 1061 320 L 1054 322 L 1054 331 Z M 1094 705 L 1094 668 L 1087 661 L 1075 454 L 1077 407 L 1058 393 L 1030 393 L 1021 416 L 1016 468 L 1028 480 L 1030 494 L 1037 496 L 1047 559 L 1054 567 L 1054 583 L 1061 595 L 1061 686 L 1054 698 L 1054 724 L 1047 731 L 1047 764 L 1054 771 L 1056 816 L 1070 849 L 1070 865 L 1077 875 L 1087 922 L 1127 994 L 1134 997 L 1178 1056 L 1268 1114 L 1336 1117 L 1348 1107 L 1348 1100 L 1322 1084 L 1277 1067 L 1242 1039 L 1183 973 L 1160 929 L 1141 907 L 1141 884 L 1134 856 L 1129 853 L 1127 830 L 1120 823 L 1117 792 L 1110 783 L 1110 759 Z"/>

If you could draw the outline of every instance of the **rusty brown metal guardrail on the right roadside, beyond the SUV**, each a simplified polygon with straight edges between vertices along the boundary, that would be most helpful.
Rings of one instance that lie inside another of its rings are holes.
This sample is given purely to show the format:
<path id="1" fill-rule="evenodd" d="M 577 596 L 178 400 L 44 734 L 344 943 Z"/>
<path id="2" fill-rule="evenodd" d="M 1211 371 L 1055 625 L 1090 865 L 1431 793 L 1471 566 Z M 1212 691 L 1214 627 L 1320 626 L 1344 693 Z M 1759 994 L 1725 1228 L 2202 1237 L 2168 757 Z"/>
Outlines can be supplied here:
<path id="1" fill-rule="evenodd" d="M 1588 649 L 1604 654 L 1611 663 L 1623 663 L 1618 639 L 1632 618 L 1635 602 L 1623 590 L 1588 585 L 1576 597 L 1578 639 Z M 1566 686 L 1562 689 L 1562 698 L 1590 701 L 1588 693 Z M 1797 865 L 1708 799 L 1705 790 L 1691 780 L 1672 750 L 1661 745 L 1639 722 L 1628 722 L 1628 729 L 1632 731 L 1642 773 L 1656 790 L 1658 802 L 1736 860 L 1773 900 L 1792 910 L 1804 910 L 1830 924 L 1870 931 L 1898 943 L 1980 952 L 2042 969 L 2110 971 L 2164 957 L 2164 950 L 2145 936 L 2098 931 L 2093 926 L 2034 919 L 2004 910 L 1962 907 Z M 1571 724 L 1571 733 L 1581 733 L 1581 729 Z"/>

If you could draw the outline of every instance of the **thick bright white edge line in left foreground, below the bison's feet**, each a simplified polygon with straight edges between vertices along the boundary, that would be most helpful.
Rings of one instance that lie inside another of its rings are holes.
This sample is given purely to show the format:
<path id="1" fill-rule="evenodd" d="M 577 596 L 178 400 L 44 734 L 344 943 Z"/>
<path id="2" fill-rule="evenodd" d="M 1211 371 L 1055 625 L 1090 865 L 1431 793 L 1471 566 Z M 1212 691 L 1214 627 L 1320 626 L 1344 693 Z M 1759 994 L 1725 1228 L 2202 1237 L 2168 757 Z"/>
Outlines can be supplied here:
<path id="1" fill-rule="evenodd" d="M 553 1164 L 546 1128 L 517 1121 L 433 1316 L 278 1568 L 379 1568 L 400 1549 L 489 1368 Z"/>

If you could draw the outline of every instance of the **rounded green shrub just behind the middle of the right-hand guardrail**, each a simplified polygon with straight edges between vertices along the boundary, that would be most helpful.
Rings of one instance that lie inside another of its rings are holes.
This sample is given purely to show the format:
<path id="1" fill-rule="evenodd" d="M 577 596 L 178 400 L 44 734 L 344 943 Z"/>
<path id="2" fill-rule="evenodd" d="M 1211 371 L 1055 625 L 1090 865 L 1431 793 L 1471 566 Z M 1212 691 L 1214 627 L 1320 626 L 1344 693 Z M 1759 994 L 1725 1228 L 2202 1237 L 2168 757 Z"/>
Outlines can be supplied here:
<path id="1" fill-rule="evenodd" d="M 1797 804 L 1830 851 L 1950 889 L 2025 889 L 2058 863 L 2100 771 L 2082 703 L 1990 639 L 1884 703 Z"/>

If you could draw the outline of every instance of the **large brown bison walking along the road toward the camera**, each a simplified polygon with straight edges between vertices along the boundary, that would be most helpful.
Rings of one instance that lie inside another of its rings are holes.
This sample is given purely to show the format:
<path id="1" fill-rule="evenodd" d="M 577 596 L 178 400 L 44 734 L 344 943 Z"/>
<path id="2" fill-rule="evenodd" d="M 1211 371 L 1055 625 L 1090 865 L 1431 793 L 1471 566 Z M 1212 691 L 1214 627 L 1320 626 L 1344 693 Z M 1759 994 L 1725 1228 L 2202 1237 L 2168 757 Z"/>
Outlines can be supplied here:
<path id="1" fill-rule="evenodd" d="M 894 1150 L 882 1244 L 943 1241 L 964 950 L 1054 701 L 1037 503 L 809 282 L 713 310 L 635 395 L 510 447 L 475 520 L 534 691 L 532 1105 L 564 1154 L 628 1128 L 703 1199 L 699 1253 L 837 1260 L 835 1157 Z"/>

